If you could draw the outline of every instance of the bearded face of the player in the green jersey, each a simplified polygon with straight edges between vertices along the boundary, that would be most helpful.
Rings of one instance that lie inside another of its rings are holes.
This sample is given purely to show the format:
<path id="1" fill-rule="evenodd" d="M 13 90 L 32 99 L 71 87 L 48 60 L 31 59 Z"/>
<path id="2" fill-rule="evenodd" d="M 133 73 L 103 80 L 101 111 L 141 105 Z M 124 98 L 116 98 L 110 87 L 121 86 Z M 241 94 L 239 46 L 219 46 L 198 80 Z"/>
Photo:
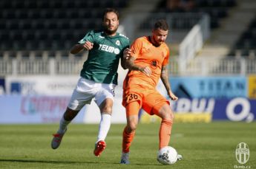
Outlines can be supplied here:
<path id="1" fill-rule="evenodd" d="M 114 35 L 119 25 L 116 13 L 106 13 L 103 21 L 103 27 L 108 35 Z"/>

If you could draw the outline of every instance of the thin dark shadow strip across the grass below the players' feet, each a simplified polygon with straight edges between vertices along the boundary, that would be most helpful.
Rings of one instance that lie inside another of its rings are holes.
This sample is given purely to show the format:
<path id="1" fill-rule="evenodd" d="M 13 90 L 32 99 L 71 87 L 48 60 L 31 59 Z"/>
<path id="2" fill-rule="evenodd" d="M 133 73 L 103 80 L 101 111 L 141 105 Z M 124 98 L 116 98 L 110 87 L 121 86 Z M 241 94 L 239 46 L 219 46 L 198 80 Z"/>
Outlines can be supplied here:
<path id="1" fill-rule="evenodd" d="M 49 164 L 111 164 L 111 165 L 121 165 L 119 162 L 65 162 L 65 161 L 44 161 L 44 160 L 33 160 L 33 159 L 0 159 L 0 162 L 24 162 L 24 163 L 49 163 Z M 130 165 L 143 165 L 145 166 L 146 164 L 140 163 L 140 164 L 130 164 Z M 152 165 L 150 165 L 152 166 Z M 157 165 L 155 165 L 157 166 Z"/>

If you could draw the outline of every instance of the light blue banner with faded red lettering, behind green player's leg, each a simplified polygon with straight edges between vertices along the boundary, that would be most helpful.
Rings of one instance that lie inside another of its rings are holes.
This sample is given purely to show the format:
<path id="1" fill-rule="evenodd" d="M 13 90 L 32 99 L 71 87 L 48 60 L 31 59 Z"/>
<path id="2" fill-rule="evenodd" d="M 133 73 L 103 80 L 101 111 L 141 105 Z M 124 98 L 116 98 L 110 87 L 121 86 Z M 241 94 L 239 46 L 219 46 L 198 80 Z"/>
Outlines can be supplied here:
<path id="1" fill-rule="evenodd" d="M 69 97 L 0 96 L 0 123 L 56 123 L 62 117 Z M 73 120 L 82 123 L 84 114 Z"/>

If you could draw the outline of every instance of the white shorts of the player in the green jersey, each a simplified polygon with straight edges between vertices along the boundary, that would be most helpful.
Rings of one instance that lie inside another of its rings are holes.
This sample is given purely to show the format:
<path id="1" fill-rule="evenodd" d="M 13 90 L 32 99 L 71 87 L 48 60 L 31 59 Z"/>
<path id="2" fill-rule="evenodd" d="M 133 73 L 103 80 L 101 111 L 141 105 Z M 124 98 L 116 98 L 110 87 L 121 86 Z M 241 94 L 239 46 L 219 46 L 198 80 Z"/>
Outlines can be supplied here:
<path id="1" fill-rule="evenodd" d="M 68 108 L 79 111 L 85 104 L 90 104 L 93 98 L 98 106 L 107 98 L 114 101 L 115 87 L 113 83 L 96 83 L 80 77 L 76 89 L 73 90 Z"/>

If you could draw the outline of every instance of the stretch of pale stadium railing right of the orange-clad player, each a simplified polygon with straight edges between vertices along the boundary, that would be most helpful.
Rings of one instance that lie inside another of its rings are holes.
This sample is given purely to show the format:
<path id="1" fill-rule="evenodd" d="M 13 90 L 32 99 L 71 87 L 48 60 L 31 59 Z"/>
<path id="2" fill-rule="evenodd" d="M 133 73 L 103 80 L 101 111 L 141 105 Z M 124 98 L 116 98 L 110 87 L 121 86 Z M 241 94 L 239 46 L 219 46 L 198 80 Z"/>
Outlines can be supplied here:
<path id="1" fill-rule="evenodd" d="M 223 59 L 199 58 L 191 60 L 180 71 L 183 62 L 179 58 L 173 58 L 169 64 L 171 75 L 250 75 L 256 74 L 256 59 L 228 57 Z"/>

